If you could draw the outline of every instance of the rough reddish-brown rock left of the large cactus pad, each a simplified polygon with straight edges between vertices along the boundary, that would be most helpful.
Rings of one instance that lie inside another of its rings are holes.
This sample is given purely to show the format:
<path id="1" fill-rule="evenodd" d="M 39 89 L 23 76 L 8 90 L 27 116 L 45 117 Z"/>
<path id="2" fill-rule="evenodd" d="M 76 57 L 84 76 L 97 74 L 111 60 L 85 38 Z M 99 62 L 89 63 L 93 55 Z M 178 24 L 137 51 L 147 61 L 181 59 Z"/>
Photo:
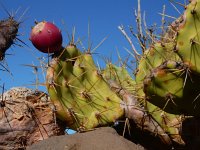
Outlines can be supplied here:
<path id="1" fill-rule="evenodd" d="M 64 128 L 55 123 L 53 105 L 44 92 L 17 87 L 0 99 L 0 149 L 25 149 L 64 134 Z"/>

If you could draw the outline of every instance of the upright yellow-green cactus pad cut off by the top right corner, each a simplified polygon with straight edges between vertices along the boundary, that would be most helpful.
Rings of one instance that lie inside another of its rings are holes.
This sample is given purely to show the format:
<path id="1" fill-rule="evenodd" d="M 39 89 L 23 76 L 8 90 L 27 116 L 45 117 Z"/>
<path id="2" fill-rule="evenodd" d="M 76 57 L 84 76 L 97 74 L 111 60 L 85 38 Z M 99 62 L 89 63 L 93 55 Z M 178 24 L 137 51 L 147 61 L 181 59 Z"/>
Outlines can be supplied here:
<path id="1" fill-rule="evenodd" d="M 192 1 L 177 34 L 176 52 L 190 70 L 200 74 L 200 0 Z"/>

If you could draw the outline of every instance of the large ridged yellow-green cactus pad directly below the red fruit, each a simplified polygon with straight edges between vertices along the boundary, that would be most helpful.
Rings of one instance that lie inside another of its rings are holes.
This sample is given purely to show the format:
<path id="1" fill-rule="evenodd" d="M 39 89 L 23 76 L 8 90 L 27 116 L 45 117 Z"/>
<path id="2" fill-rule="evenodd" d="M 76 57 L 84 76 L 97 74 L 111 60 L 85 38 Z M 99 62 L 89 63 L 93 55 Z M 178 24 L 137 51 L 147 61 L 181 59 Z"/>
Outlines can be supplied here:
<path id="1" fill-rule="evenodd" d="M 52 59 L 47 89 L 57 116 L 75 130 L 109 125 L 124 115 L 121 99 L 110 89 L 89 53 L 73 46 Z"/>

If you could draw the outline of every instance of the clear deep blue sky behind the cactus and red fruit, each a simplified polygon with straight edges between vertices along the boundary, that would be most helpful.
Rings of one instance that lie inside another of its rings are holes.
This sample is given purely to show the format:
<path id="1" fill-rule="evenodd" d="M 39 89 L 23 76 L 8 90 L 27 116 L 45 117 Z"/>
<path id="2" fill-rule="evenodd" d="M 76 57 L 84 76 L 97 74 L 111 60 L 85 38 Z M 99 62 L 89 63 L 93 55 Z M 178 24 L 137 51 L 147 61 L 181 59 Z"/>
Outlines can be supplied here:
<path id="1" fill-rule="evenodd" d="M 146 12 L 148 25 L 154 22 L 160 24 L 162 6 L 166 4 L 167 14 L 178 16 L 178 13 L 170 5 L 168 0 L 141 0 L 142 10 Z M 19 9 L 16 18 L 19 18 L 28 8 L 26 14 L 22 17 L 23 23 L 20 26 L 19 38 L 29 47 L 12 46 L 7 53 L 13 54 L 6 57 L 9 69 L 13 76 L 8 73 L 0 72 L 0 85 L 5 83 L 5 88 L 9 89 L 15 86 L 28 86 L 33 84 L 35 75 L 33 69 L 25 67 L 22 64 L 38 65 L 38 57 L 46 57 L 45 54 L 38 52 L 29 41 L 31 26 L 34 21 L 51 21 L 54 22 L 63 33 L 64 43 L 69 40 L 67 31 L 71 33 L 72 27 L 76 27 L 76 39 L 83 39 L 84 46 L 87 48 L 88 22 L 90 24 L 91 42 L 95 47 L 104 37 L 108 39 L 100 46 L 96 52 L 100 56 L 110 57 L 113 55 L 113 61 L 116 61 L 116 49 L 122 56 L 127 55 L 124 47 L 130 49 L 129 44 L 122 36 L 117 26 L 123 24 L 135 26 L 134 9 L 137 8 L 137 0 L 1 0 L 9 12 L 15 12 Z M 0 7 L 0 18 L 7 16 L 5 11 Z M 64 22 L 64 24 L 62 23 Z M 137 47 L 137 42 L 135 43 Z M 100 60 L 99 60 L 100 61 Z M 40 73 L 41 74 L 41 73 Z M 40 82 L 44 82 L 40 75 Z M 45 88 L 40 88 L 45 90 Z"/>

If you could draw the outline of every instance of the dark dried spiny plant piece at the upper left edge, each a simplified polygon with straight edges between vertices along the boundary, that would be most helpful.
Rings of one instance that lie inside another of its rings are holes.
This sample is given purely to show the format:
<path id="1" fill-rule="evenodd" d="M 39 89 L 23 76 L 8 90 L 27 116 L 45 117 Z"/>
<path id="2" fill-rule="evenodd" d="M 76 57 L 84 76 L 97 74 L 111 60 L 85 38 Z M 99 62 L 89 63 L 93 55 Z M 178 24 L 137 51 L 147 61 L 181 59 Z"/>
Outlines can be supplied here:
<path id="1" fill-rule="evenodd" d="M 6 19 L 0 20 L 0 71 L 8 72 L 12 76 L 12 72 L 6 63 L 5 56 L 11 55 L 7 53 L 7 50 L 11 46 L 16 45 L 23 47 L 23 45 L 26 45 L 26 43 L 19 38 L 21 34 L 18 31 L 21 24 L 24 22 L 24 16 L 28 9 L 24 10 L 24 12 L 17 17 L 19 9 L 15 12 L 9 12 L 1 2 L 0 7 L 7 14 Z"/>

